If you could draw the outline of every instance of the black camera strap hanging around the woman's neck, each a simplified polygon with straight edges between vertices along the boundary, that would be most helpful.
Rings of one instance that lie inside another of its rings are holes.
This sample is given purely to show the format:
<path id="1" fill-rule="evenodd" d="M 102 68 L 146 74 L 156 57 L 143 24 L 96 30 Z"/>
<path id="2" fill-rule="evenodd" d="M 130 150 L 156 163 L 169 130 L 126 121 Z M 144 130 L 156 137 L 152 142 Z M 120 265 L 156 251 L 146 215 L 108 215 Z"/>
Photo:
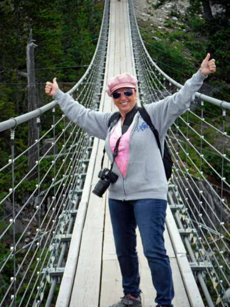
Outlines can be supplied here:
<path id="1" fill-rule="evenodd" d="M 131 123 L 133 121 L 133 118 L 134 118 L 136 112 L 138 111 L 138 109 L 139 109 L 139 107 L 137 106 L 137 104 L 135 104 L 134 107 L 131 109 L 131 111 L 126 114 L 125 120 L 124 120 L 123 125 L 122 125 L 122 135 L 125 134 L 128 131 L 128 129 L 129 129 L 129 127 L 130 127 L 130 125 L 131 125 Z M 115 121 L 116 118 L 112 121 L 112 127 L 114 127 L 117 124 L 117 122 L 118 122 L 120 117 L 121 117 L 121 115 L 118 114 L 117 115 L 117 121 Z M 114 159 L 118 156 L 118 150 L 119 150 L 118 147 L 119 147 L 119 143 L 120 143 L 122 135 L 117 140 L 116 146 L 115 146 L 113 154 L 112 154 L 113 161 L 111 163 L 111 167 L 110 167 L 110 170 L 109 170 L 110 172 L 112 171 L 112 168 L 113 168 Z M 105 156 L 105 147 L 103 149 L 103 157 L 102 157 L 102 161 L 101 161 L 102 162 L 101 163 L 101 168 L 103 168 L 104 156 Z"/>

